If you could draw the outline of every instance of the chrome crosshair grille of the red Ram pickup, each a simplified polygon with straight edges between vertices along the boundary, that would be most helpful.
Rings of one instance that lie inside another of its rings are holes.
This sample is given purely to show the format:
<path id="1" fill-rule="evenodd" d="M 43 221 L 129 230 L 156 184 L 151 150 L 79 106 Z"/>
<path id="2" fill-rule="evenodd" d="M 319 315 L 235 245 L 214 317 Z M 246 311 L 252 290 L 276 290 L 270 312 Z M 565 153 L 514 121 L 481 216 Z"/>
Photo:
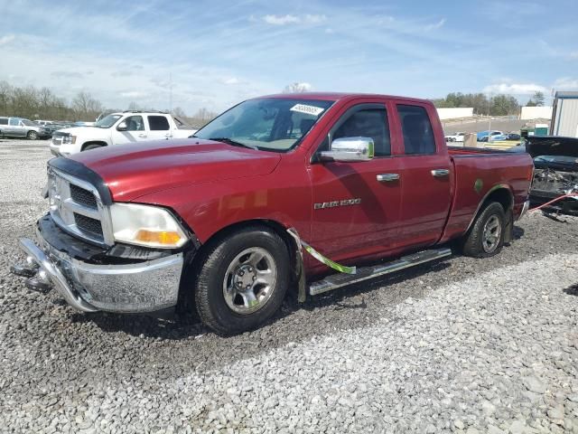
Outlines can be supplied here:
<path id="1" fill-rule="evenodd" d="M 49 167 L 48 197 L 52 220 L 64 231 L 99 245 L 113 244 L 108 208 L 92 184 Z"/>

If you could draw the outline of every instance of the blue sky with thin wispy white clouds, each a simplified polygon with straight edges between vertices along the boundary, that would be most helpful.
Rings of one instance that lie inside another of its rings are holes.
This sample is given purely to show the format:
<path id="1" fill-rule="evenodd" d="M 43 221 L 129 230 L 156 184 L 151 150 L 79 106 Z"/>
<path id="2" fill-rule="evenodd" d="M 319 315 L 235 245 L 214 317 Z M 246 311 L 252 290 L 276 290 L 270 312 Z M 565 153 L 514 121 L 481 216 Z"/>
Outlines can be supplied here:
<path id="1" fill-rule="evenodd" d="M 66 99 L 88 91 L 108 108 L 221 111 L 294 82 L 522 103 L 578 90 L 575 0 L 8 3 L 0 80 Z"/>

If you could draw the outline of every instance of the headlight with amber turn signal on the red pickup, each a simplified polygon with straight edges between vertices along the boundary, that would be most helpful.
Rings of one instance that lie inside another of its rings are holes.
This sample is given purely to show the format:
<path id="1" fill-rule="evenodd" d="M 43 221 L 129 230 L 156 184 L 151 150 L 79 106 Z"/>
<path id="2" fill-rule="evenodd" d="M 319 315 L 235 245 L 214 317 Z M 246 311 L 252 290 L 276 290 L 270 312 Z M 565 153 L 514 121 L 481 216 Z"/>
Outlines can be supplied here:
<path id="1" fill-rule="evenodd" d="M 110 207 L 110 216 L 116 241 L 174 249 L 188 240 L 171 212 L 158 206 L 114 203 Z"/>

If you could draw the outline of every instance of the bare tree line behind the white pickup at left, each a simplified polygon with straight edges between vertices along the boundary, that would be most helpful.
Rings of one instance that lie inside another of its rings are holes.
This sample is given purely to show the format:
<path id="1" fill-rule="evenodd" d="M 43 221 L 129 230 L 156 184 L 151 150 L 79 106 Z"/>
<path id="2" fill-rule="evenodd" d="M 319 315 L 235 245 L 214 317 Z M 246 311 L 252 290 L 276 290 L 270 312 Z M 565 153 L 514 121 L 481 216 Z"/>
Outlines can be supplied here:
<path id="1" fill-rule="evenodd" d="M 135 102 L 128 104 L 128 110 L 157 110 L 144 108 Z M 48 88 L 34 86 L 17 87 L 7 81 L 0 80 L 0 116 L 14 116 L 18 118 L 66 120 L 66 121 L 94 121 L 102 113 L 114 113 L 124 109 L 107 109 L 89 92 L 80 91 L 68 101 L 55 95 Z M 164 110 L 170 111 L 170 110 Z M 187 116 L 183 109 L 176 107 L 172 114 L 182 118 L 191 127 L 202 127 L 217 113 L 209 109 L 199 109 L 192 116 Z"/>

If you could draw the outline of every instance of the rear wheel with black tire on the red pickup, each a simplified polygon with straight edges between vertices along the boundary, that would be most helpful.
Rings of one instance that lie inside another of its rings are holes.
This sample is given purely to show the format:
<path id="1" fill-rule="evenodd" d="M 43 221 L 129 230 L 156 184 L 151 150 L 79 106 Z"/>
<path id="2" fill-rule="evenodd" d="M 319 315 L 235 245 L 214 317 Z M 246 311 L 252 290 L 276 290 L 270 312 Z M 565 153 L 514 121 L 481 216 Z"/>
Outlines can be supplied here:
<path id="1" fill-rule="evenodd" d="M 490 229 L 494 223 L 499 225 L 499 235 Z M 497 255 L 504 246 L 505 223 L 506 212 L 504 212 L 502 205 L 497 202 L 488 203 L 476 216 L 470 231 L 465 235 L 462 244 L 463 254 L 474 258 L 489 258 Z M 485 235 L 491 233 L 493 233 L 493 237 L 487 239 Z"/>

